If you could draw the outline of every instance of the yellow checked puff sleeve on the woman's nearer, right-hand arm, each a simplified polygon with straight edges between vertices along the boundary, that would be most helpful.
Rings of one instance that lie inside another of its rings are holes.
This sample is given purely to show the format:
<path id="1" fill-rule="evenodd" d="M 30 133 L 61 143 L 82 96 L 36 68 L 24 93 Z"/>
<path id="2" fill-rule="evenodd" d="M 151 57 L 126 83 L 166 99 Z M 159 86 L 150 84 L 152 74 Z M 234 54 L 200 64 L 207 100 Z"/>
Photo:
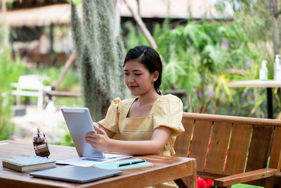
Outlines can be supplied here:
<path id="1" fill-rule="evenodd" d="M 183 103 L 181 99 L 172 94 L 167 94 L 155 101 L 153 106 L 153 130 L 160 126 L 171 128 L 172 136 L 184 132 L 181 119 L 183 118 Z"/>

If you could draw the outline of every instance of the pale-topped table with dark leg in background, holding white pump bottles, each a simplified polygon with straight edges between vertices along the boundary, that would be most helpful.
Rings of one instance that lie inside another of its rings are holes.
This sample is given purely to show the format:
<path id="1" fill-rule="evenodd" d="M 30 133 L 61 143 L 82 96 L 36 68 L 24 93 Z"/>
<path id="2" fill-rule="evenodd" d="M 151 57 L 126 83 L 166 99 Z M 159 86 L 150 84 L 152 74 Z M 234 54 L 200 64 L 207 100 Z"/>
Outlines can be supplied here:
<path id="1" fill-rule="evenodd" d="M 281 87 L 281 82 L 275 80 L 244 80 L 238 82 L 229 82 L 229 87 L 266 87 L 267 91 L 267 109 L 268 109 L 268 118 L 273 119 L 273 87 Z"/>

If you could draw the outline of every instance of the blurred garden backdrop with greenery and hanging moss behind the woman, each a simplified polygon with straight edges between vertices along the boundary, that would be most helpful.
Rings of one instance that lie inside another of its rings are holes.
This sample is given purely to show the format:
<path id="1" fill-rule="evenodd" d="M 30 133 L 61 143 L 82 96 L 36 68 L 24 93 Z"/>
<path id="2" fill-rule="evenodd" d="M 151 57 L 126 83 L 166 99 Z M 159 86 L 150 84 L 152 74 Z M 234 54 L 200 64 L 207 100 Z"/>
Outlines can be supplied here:
<path id="1" fill-rule="evenodd" d="M 263 60 L 273 80 L 279 0 L 108 2 L 1 1 L 0 139 L 31 139 L 40 127 L 51 144 L 72 145 L 60 108 L 86 106 L 93 120 L 102 118 L 108 101 L 127 95 L 119 65 L 141 44 L 161 54 L 160 89 L 180 96 L 185 112 L 267 118 L 265 88 L 230 88 L 228 82 L 258 80 Z M 22 96 L 25 114 L 15 115 L 22 108 L 15 108 L 11 83 L 22 75 L 40 75 L 44 85 L 67 94 L 45 94 L 42 109 L 36 97 Z M 107 77 L 115 82 L 102 87 Z M 280 118 L 280 89 L 272 92 L 273 118 Z"/>

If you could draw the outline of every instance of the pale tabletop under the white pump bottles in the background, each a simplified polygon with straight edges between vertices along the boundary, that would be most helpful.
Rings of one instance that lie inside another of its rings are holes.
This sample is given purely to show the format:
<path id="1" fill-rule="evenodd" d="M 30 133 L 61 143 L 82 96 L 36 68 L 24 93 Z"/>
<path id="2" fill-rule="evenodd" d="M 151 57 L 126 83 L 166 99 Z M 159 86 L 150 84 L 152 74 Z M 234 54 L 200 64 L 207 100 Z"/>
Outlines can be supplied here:
<path id="1" fill-rule="evenodd" d="M 243 80 L 228 82 L 229 87 L 281 87 L 281 82 L 275 80 Z"/>

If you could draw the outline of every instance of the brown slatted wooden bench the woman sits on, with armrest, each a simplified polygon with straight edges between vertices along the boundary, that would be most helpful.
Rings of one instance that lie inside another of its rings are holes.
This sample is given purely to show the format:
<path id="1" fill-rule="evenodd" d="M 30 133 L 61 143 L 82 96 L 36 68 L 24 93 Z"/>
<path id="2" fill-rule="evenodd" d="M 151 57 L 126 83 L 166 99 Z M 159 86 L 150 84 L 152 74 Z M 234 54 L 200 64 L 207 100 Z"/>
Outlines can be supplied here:
<path id="1" fill-rule="evenodd" d="M 182 122 L 176 156 L 196 158 L 197 175 L 214 179 L 214 186 L 270 187 L 280 172 L 281 120 L 183 113 Z"/>

